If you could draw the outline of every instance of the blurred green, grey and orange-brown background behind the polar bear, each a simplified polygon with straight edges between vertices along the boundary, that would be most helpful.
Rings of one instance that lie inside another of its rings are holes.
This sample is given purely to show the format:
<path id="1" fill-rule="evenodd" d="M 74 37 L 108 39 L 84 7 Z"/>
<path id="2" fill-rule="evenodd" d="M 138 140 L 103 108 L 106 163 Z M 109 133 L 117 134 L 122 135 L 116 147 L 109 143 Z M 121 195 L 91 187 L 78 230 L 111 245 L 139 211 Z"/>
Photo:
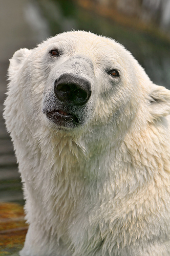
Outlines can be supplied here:
<path id="1" fill-rule="evenodd" d="M 27 232 L 22 185 L 2 117 L 8 59 L 69 30 L 114 38 L 155 83 L 170 89 L 170 0 L 0 0 L 0 255 L 22 248 Z"/>

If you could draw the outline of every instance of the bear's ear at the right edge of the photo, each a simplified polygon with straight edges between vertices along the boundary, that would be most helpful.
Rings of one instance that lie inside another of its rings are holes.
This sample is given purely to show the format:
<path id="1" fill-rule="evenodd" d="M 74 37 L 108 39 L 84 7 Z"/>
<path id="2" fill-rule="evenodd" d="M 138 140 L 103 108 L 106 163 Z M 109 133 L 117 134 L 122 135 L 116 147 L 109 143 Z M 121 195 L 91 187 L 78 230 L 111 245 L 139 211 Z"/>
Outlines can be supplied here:
<path id="1" fill-rule="evenodd" d="M 151 87 L 150 112 L 154 118 L 170 115 L 170 91 L 163 86 Z"/>

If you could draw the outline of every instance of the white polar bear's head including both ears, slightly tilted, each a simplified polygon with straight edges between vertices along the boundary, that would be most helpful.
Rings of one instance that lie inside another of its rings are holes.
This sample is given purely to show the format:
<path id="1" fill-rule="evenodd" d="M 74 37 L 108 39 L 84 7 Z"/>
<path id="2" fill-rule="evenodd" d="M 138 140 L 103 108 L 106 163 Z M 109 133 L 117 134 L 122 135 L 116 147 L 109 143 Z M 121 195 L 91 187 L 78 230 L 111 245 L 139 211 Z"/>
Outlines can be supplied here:
<path id="1" fill-rule="evenodd" d="M 23 99 L 16 104 L 25 109 L 28 126 L 36 120 L 77 133 L 111 125 L 108 130 L 120 135 L 136 117 L 143 125 L 169 114 L 168 90 L 155 86 L 118 42 L 90 32 L 62 33 L 33 50 L 20 49 L 9 80 L 13 97 Z"/>

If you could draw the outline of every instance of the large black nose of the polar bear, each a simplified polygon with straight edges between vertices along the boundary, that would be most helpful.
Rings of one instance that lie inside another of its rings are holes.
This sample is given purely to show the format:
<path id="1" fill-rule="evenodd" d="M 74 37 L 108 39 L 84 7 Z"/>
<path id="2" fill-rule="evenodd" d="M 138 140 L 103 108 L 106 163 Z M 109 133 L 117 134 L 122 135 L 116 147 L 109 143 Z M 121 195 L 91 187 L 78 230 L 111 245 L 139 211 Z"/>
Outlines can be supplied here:
<path id="1" fill-rule="evenodd" d="M 64 74 L 54 83 L 55 96 L 62 102 L 84 105 L 91 95 L 91 84 L 84 78 Z"/>

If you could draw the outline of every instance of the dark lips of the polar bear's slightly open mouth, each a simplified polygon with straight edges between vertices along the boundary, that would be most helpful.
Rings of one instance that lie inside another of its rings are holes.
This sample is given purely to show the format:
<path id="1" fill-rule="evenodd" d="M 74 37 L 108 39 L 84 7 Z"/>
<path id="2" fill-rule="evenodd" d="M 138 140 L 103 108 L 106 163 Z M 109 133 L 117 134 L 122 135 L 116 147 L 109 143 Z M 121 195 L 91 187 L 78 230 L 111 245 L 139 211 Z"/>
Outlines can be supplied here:
<path id="1" fill-rule="evenodd" d="M 57 126 L 75 127 L 79 124 L 78 118 L 62 110 L 53 110 L 46 113 L 47 118 Z"/>

